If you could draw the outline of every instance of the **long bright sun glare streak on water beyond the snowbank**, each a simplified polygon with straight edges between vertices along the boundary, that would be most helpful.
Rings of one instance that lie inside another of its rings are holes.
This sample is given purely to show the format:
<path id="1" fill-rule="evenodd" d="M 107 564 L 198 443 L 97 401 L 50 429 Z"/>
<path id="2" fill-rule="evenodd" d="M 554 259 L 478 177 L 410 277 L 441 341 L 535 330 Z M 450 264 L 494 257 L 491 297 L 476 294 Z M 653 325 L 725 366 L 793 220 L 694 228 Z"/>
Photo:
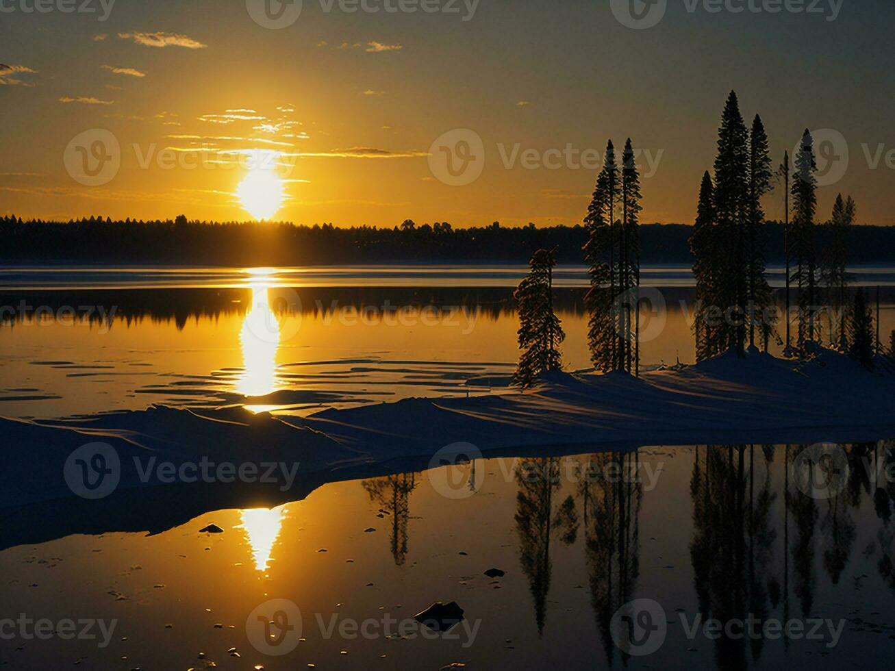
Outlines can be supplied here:
<path id="1" fill-rule="evenodd" d="M 270 307 L 268 283 L 251 285 L 251 308 L 245 315 L 239 340 L 243 348 L 243 374 L 236 391 L 264 396 L 277 390 L 277 349 L 280 325 Z"/>

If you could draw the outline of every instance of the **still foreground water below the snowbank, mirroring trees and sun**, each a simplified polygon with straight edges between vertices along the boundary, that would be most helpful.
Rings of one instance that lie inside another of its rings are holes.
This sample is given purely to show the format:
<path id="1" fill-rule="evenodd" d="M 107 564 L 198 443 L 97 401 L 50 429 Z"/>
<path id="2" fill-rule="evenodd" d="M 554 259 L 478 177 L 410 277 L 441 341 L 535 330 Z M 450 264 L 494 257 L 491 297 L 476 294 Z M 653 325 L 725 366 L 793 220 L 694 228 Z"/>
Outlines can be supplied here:
<path id="1" fill-rule="evenodd" d="M 0 585 L 0 602 L 13 613 L 63 607 L 57 588 L 80 584 L 73 578 L 88 570 L 113 576 L 115 590 L 127 596 L 145 590 L 146 575 L 176 586 L 152 590 L 152 607 L 141 609 L 133 601 L 129 606 L 126 600 L 109 599 L 105 577 L 85 583 L 82 598 L 91 612 L 120 617 L 122 634 L 132 641 L 130 650 L 123 641 L 109 650 L 90 650 L 90 660 L 103 668 L 138 654 L 141 667 L 175 668 L 192 658 L 197 646 L 226 650 L 239 644 L 236 639 L 222 645 L 213 624 L 239 623 L 257 607 L 260 597 L 245 593 L 244 581 L 229 579 L 247 574 L 263 576 L 264 592 L 288 595 L 305 612 L 328 614 L 338 603 L 340 614 L 355 620 L 370 617 L 383 604 L 422 608 L 429 599 L 456 599 L 488 624 L 481 641 L 463 653 L 475 667 L 517 667 L 519 658 L 534 668 L 795 671 L 855 662 L 884 667 L 890 655 L 886 644 L 895 635 L 895 444 L 833 447 L 845 461 L 837 459 L 838 470 L 824 477 L 820 472 L 803 477 L 803 471 L 824 468 L 805 461 L 808 446 L 617 449 L 482 460 L 475 477 L 480 493 L 456 499 L 427 486 L 428 473 L 333 482 L 303 504 L 303 518 L 316 522 L 302 529 L 284 523 L 284 506 L 242 510 L 233 517 L 217 512 L 146 537 L 72 536 L 84 530 L 58 528 L 55 533 L 68 538 L 0 553 L 0 573 L 9 576 Z M 661 478 L 650 474 L 660 472 Z M 821 494 L 814 489 L 841 474 L 844 480 L 832 490 Z M 287 505 L 294 510 L 294 504 Z M 146 514 L 121 507 L 132 515 Z M 42 526 L 72 514 L 57 508 Z M 203 551 L 207 539 L 197 538 L 195 530 L 214 520 L 228 527 L 241 521 L 245 542 L 224 538 Z M 358 538 L 356 530 L 368 526 L 379 533 Z M 385 554 L 387 544 L 391 556 Z M 318 554 L 316 548 L 328 548 L 328 553 Z M 458 550 L 471 551 L 460 556 Z M 134 563 L 139 557 L 143 569 L 121 573 L 121 556 L 134 557 Z M 364 561 L 347 561 L 358 556 Z M 270 571 L 272 561 L 278 562 L 277 571 Z M 237 562 L 244 566 L 234 567 Z M 294 569 L 305 564 L 312 565 L 311 582 L 307 572 Z M 486 582 L 478 574 L 488 566 L 507 571 L 494 585 L 499 592 L 482 589 Z M 457 585 L 459 576 L 464 577 Z M 50 589 L 32 587 L 45 583 Z M 629 657 L 613 640 L 612 616 L 635 599 L 653 599 L 668 616 L 667 641 L 650 658 Z M 124 607 L 128 610 L 120 610 Z M 192 630 L 186 619 L 192 622 L 204 608 L 212 612 Z M 507 617 L 508 609 L 513 616 Z M 157 632 L 181 612 L 183 623 L 175 622 L 166 634 L 170 642 L 154 645 Z M 754 631 L 762 632 L 765 623 L 801 622 L 806 632 L 821 619 L 842 623 L 841 636 L 833 641 L 824 628 L 818 631 L 821 639 L 754 638 L 744 636 L 738 624 L 752 621 Z M 717 635 L 695 624 L 710 620 L 722 624 Z M 429 642 L 410 648 L 358 641 L 351 650 L 358 660 L 353 667 L 370 667 L 383 649 L 395 668 L 438 668 L 456 652 Z M 505 644 L 515 651 L 502 652 Z M 309 636 L 303 650 L 277 668 L 303 667 L 309 658 L 319 667 L 321 661 L 346 667 L 341 653 L 346 647 L 345 641 Z M 245 641 L 240 648 L 252 654 Z M 47 656 L 77 654 L 29 646 L 15 650 L 17 663 L 7 666 L 51 667 L 52 662 L 39 658 L 42 650 L 49 650 Z M 5 652 L 0 650 L 0 666 Z M 269 659 L 247 660 L 256 662 L 271 666 Z"/>

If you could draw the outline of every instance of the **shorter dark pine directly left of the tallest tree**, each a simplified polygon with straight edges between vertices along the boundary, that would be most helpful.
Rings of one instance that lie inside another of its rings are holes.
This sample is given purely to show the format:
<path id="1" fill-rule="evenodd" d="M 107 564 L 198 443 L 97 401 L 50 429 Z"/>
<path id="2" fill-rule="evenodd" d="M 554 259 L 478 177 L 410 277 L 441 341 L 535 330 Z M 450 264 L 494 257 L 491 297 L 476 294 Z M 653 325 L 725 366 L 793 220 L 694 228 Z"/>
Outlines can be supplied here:
<path id="1" fill-rule="evenodd" d="M 696 361 L 705 361 L 712 357 L 718 349 L 717 326 L 707 314 L 712 306 L 713 287 L 719 276 L 717 261 L 719 255 L 714 251 L 718 245 L 715 227 L 714 187 L 712 175 L 706 170 L 703 183 L 699 189 L 699 204 L 696 206 L 696 221 L 690 237 L 690 250 L 693 251 L 693 275 L 696 279 L 696 308 L 694 335 L 696 336 Z"/>

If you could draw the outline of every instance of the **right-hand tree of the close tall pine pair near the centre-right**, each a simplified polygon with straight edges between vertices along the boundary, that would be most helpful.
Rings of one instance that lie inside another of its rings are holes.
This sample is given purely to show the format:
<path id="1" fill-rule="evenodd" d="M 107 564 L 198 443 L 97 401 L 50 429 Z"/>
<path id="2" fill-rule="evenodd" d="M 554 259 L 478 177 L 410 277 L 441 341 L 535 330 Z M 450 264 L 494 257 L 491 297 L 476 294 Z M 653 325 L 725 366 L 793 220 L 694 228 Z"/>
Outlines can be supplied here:
<path id="1" fill-rule="evenodd" d="M 643 207 L 640 201 L 640 173 L 634 159 L 634 148 L 631 139 L 625 142 L 622 153 L 621 169 L 622 199 L 622 254 L 621 275 L 623 284 L 619 287 L 624 296 L 622 314 L 624 315 L 625 353 L 622 368 L 627 372 L 640 374 L 640 334 L 639 334 L 639 292 L 640 292 L 640 213 Z"/>

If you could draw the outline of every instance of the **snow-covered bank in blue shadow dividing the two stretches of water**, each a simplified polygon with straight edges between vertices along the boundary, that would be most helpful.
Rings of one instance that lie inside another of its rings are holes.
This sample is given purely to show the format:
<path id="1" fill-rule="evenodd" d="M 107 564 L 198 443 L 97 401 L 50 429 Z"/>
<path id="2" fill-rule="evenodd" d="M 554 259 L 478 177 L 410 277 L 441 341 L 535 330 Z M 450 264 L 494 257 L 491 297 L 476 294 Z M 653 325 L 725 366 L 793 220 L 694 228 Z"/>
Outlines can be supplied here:
<path id="1" fill-rule="evenodd" d="M 422 470 L 439 449 L 454 443 L 472 443 L 486 455 L 512 456 L 534 447 L 573 454 L 601 446 L 891 438 L 893 402 L 895 376 L 868 372 L 840 353 L 824 350 L 797 364 L 751 351 L 743 360 L 727 354 L 695 366 L 646 372 L 642 378 L 551 373 L 524 393 L 504 389 L 469 398 L 410 398 L 304 418 L 256 415 L 241 407 L 190 411 L 163 406 L 55 422 L 0 418 L 7 446 L 0 508 L 71 501 L 64 463 L 74 449 L 95 441 L 114 446 L 121 457 L 116 496 L 153 487 L 153 496 L 164 489 L 170 505 L 180 505 L 188 486 L 162 488 L 141 481 L 132 462 L 155 456 L 183 464 L 204 457 L 215 463 L 299 463 L 294 489 L 277 494 L 285 501 L 327 481 Z M 252 488 L 233 490 L 216 490 L 220 507 L 241 506 L 257 496 Z M 87 503 L 97 513 L 96 502 Z M 201 506 L 192 499 L 191 505 Z M 100 526 L 102 517 L 96 522 Z M 167 518 L 158 523 L 164 525 Z"/>

